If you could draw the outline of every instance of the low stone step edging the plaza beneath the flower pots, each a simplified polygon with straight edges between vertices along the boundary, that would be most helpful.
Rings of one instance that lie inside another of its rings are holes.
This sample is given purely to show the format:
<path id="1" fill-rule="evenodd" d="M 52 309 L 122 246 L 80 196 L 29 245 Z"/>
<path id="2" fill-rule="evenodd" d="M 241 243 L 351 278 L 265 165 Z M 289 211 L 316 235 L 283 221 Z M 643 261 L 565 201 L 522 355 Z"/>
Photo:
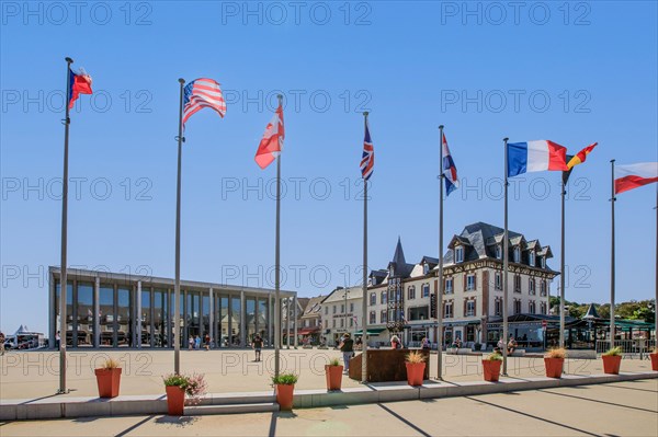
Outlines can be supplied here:
<path id="1" fill-rule="evenodd" d="M 341 391 L 327 392 L 325 389 L 296 390 L 295 409 L 333 405 L 354 405 L 395 401 L 427 400 L 439 398 L 470 396 L 478 394 L 504 393 L 510 391 L 541 390 L 560 387 L 589 386 L 610 382 L 624 382 L 639 379 L 658 379 L 658 372 L 621 372 L 620 375 L 565 375 L 561 379 L 537 377 L 526 379 L 501 378 L 499 382 L 486 381 L 427 381 L 420 387 L 404 383 L 372 383 Z M 55 396 L 56 398 L 56 396 Z M 250 401 L 251 400 L 251 401 Z M 68 398 L 53 402 L 53 396 L 35 400 L 0 400 L 0 419 L 46 419 L 93 416 L 128 416 L 166 414 L 166 394 L 132 394 L 113 399 L 93 396 Z M 231 413 L 253 412 L 254 404 L 274 402 L 273 391 L 243 393 L 208 393 L 202 400 L 204 406 L 226 406 Z M 213 410 L 213 409 L 209 409 Z M 190 412 L 198 411 L 190 410 Z M 271 410 L 270 410 L 271 411 Z"/>

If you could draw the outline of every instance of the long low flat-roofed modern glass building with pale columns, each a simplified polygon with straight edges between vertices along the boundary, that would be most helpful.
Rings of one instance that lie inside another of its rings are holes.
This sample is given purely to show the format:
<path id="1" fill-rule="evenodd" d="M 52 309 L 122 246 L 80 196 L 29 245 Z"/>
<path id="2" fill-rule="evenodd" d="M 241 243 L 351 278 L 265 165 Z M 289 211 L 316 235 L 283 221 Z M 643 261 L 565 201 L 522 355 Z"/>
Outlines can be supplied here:
<path id="1" fill-rule="evenodd" d="M 60 269 L 49 267 L 49 342 L 60 326 Z M 173 347 L 174 280 L 67 269 L 68 347 Z M 294 291 L 281 298 L 297 299 Z M 181 347 L 209 335 L 213 347 L 245 347 L 256 333 L 274 340 L 274 290 L 181 280 Z M 282 319 L 280 319 L 282 320 Z M 64 340 L 64 335 L 61 335 Z"/>

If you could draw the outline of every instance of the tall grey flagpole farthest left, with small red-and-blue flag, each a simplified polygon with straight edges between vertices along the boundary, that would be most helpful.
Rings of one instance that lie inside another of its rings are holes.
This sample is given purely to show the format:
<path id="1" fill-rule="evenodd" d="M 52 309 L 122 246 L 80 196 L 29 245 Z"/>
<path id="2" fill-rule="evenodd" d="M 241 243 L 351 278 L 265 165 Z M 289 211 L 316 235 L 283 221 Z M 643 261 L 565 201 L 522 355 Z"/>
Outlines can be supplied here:
<path id="1" fill-rule="evenodd" d="M 69 117 L 70 96 L 70 71 L 71 58 L 66 60 L 66 116 L 64 119 L 64 171 L 61 176 L 61 263 L 59 277 L 59 390 L 58 394 L 68 393 L 66 388 L 66 297 L 68 291 L 67 272 L 66 272 L 66 255 L 67 255 L 67 234 L 68 234 L 68 137 L 71 119 Z"/>

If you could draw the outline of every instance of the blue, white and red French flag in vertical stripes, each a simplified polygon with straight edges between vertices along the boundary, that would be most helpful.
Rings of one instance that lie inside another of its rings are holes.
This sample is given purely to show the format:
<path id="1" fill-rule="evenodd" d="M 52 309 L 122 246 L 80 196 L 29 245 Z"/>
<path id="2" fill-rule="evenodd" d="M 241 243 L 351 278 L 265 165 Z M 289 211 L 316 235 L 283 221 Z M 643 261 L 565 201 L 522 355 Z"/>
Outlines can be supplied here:
<path id="1" fill-rule="evenodd" d="M 566 147 L 548 140 L 508 143 L 508 177 L 546 170 L 569 170 Z"/>

